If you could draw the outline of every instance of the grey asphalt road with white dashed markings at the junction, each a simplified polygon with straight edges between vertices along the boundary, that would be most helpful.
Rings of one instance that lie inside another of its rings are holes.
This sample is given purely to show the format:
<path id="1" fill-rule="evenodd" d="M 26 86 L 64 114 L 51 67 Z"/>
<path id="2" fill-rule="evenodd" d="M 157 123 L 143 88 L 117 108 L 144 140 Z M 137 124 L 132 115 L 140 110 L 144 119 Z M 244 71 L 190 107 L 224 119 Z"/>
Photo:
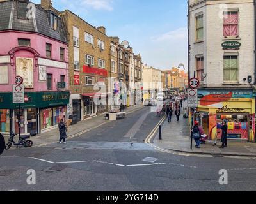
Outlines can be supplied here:
<path id="1" fill-rule="evenodd" d="M 256 190 L 253 158 L 165 153 L 144 143 L 159 120 L 145 107 L 66 145 L 5 151 L 0 191 Z M 35 170 L 35 185 L 26 182 L 29 169 Z M 228 185 L 219 183 L 221 169 L 228 171 Z"/>

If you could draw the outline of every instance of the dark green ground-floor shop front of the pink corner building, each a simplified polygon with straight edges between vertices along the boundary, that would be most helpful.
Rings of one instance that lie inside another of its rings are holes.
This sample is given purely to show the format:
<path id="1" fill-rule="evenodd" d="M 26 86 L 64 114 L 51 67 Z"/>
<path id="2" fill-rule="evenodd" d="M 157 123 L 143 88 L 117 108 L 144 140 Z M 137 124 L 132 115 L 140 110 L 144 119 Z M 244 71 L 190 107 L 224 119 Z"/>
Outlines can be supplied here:
<path id="1" fill-rule="evenodd" d="M 25 92 L 20 103 L 20 131 L 43 133 L 56 128 L 60 119 L 67 119 L 69 92 Z M 0 132 L 19 133 L 19 105 L 12 103 L 12 93 L 0 93 Z"/>

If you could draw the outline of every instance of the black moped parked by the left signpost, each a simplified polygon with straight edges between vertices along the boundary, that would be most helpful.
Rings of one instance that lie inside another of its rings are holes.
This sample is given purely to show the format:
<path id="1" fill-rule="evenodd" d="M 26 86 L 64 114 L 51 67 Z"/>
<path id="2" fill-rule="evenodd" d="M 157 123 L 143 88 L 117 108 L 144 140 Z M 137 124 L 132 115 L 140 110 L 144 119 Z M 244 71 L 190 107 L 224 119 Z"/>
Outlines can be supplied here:
<path id="1" fill-rule="evenodd" d="M 35 131 L 31 131 L 30 135 L 22 135 L 20 136 L 20 140 L 18 143 L 15 143 L 13 138 L 15 137 L 14 133 L 10 133 L 10 138 L 8 140 L 8 143 L 5 145 L 5 149 L 8 150 L 12 147 L 12 145 L 15 145 L 18 147 L 23 146 L 23 147 L 31 147 L 33 145 L 32 140 L 28 140 L 31 136 L 36 136 Z"/>

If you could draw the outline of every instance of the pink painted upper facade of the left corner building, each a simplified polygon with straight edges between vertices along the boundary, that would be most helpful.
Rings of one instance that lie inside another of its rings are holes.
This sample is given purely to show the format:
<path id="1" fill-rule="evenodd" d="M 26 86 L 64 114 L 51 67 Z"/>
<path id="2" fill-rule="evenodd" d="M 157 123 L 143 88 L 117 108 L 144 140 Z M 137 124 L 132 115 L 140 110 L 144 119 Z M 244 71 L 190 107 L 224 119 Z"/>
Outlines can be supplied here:
<path id="1" fill-rule="evenodd" d="M 30 39 L 29 47 L 20 47 L 18 38 Z M 52 58 L 46 57 L 46 43 L 52 45 Z M 38 33 L 26 33 L 20 31 L 0 31 L 0 58 L 10 56 L 8 65 L 8 84 L 0 84 L 1 92 L 12 92 L 12 84 L 15 84 L 16 60 L 17 57 L 33 59 L 33 89 L 26 89 L 26 92 L 57 91 L 57 82 L 60 82 L 61 75 L 65 76 L 66 90 L 68 89 L 68 47 L 66 43 L 48 38 Z M 60 48 L 65 49 L 64 59 L 60 60 Z M 42 64 L 39 61 L 44 61 Z M 52 74 L 52 89 L 47 90 L 47 82 L 39 80 L 39 66 L 45 66 L 46 72 Z"/>

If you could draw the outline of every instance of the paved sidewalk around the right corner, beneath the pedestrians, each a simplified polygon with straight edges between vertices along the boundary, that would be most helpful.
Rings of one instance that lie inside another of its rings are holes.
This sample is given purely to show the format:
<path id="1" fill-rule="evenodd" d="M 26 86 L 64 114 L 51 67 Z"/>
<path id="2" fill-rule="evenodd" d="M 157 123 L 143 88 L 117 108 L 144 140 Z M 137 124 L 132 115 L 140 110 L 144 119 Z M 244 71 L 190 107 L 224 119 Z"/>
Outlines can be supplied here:
<path id="1" fill-rule="evenodd" d="M 158 133 L 157 133 L 158 134 Z M 164 121 L 162 126 L 162 140 L 158 140 L 158 135 L 154 139 L 154 145 L 162 149 L 173 150 L 177 152 L 188 152 L 196 154 L 219 154 L 227 156 L 256 156 L 256 143 L 228 141 L 228 147 L 220 149 L 221 143 L 213 146 L 206 142 L 200 149 L 195 148 L 193 140 L 193 149 L 190 149 L 189 119 L 183 119 L 180 116 L 180 122 L 176 122 L 175 115 L 172 122 Z"/>

